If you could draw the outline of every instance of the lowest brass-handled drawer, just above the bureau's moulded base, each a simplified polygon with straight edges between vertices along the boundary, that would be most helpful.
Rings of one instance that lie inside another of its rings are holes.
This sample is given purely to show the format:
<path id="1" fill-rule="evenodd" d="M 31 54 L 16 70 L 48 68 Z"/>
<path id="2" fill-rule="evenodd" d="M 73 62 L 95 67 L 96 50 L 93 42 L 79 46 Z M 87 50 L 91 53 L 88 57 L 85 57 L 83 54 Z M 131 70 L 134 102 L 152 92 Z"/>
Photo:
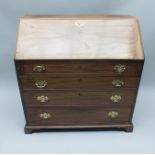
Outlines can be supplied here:
<path id="1" fill-rule="evenodd" d="M 26 109 L 28 125 L 79 125 L 113 124 L 130 121 L 130 108 L 29 108 Z"/>

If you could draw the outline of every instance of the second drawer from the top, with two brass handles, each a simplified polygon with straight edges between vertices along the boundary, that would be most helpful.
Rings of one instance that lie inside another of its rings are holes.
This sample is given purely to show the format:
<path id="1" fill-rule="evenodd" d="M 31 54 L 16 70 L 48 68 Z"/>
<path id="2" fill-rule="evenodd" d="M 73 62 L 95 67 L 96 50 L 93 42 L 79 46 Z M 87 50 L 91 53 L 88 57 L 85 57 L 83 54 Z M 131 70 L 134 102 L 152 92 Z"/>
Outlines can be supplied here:
<path id="1" fill-rule="evenodd" d="M 52 78 L 21 77 L 24 90 L 28 89 L 123 89 L 136 88 L 138 77 Z"/>

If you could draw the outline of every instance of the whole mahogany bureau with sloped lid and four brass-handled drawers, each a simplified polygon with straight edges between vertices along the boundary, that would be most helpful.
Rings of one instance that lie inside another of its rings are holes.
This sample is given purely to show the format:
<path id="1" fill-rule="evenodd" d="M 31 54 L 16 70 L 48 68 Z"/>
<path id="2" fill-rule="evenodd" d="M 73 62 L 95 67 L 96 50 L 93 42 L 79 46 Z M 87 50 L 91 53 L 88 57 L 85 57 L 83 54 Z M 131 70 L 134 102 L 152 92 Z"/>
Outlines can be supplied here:
<path id="1" fill-rule="evenodd" d="M 130 16 L 24 16 L 15 65 L 25 133 L 123 129 L 132 116 L 144 53 Z"/>

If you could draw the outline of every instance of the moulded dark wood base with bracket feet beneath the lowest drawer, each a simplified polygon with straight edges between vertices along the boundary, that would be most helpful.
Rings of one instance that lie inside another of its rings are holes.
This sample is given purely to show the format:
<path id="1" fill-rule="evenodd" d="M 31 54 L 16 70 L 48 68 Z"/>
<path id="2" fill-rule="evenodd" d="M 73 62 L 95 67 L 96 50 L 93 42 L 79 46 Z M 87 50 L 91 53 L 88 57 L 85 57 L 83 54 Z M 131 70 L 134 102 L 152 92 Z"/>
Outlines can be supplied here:
<path id="1" fill-rule="evenodd" d="M 103 131 L 103 130 L 125 130 L 133 131 L 132 123 L 113 123 L 113 124 L 72 124 L 72 125 L 25 125 L 25 133 L 33 131 Z"/>

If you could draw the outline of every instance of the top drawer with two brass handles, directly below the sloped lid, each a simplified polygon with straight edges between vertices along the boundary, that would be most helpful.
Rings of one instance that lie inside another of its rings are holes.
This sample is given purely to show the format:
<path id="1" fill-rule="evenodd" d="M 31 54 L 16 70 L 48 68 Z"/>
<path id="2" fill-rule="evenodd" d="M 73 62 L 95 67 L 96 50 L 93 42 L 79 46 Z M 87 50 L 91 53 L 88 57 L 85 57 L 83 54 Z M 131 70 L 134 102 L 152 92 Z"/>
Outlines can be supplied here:
<path id="1" fill-rule="evenodd" d="M 24 61 L 21 64 L 22 74 L 103 74 L 140 75 L 142 63 L 138 61 Z"/>

